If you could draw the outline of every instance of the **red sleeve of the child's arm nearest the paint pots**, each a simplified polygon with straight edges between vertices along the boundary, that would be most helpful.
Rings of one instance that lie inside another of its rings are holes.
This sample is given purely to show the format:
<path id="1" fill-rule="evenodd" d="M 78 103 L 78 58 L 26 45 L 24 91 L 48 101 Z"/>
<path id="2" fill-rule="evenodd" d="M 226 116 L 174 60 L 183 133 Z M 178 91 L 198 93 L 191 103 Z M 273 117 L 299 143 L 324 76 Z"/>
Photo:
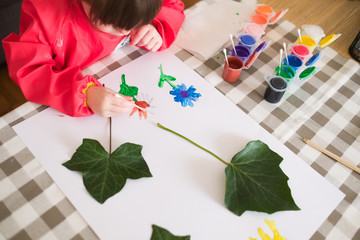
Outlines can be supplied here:
<path id="1" fill-rule="evenodd" d="M 184 3 L 181 0 L 164 0 L 163 6 L 155 17 L 153 24 L 160 33 L 163 44 L 159 51 L 164 50 L 175 41 L 184 22 Z"/>

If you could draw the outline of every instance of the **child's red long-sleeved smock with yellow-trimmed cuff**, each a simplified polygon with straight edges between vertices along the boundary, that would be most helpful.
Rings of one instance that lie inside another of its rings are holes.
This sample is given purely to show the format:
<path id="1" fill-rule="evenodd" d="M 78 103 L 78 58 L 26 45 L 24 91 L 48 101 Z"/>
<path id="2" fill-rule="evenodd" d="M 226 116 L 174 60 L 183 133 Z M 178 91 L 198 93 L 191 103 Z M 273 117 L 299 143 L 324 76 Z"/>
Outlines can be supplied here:
<path id="1" fill-rule="evenodd" d="M 184 4 L 164 0 L 153 20 L 168 48 L 184 21 Z M 109 55 L 124 36 L 94 31 L 80 1 L 24 0 L 20 33 L 3 40 L 11 79 L 29 101 L 70 116 L 93 114 L 86 89 L 100 83 L 81 69 Z"/>

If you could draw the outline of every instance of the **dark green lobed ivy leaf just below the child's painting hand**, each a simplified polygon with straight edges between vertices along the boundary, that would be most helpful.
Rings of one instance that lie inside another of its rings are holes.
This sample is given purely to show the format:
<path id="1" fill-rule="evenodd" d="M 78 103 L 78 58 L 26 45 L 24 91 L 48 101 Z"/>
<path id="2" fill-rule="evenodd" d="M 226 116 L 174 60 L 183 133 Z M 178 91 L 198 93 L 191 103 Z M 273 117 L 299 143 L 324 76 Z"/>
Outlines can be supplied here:
<path id="1" fill-rule="evenodd" d="M 85 188 L 98 202 L 104 203 L 123 188 L 127 178 L 152 177 L 141 149 L 141 145 L 124 143 L 109 154 L 98 141 L 83 139 L 63 165 L 82 172 Z"/>

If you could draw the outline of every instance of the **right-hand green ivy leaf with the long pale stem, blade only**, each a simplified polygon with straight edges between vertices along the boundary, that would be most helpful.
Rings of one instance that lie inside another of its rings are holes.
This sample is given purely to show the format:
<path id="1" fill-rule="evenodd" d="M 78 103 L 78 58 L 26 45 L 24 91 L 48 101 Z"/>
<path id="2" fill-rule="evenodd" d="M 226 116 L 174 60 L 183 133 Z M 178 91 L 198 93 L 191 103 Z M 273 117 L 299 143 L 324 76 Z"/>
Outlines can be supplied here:
<path id="1" fill-rule="evenodd" d="M 225 205 L 240 216 L 246 210 L 274 213 L 299 210 L 279 164 L 283 158 L 257 140 L 235 154 L 225 169 Z"/>

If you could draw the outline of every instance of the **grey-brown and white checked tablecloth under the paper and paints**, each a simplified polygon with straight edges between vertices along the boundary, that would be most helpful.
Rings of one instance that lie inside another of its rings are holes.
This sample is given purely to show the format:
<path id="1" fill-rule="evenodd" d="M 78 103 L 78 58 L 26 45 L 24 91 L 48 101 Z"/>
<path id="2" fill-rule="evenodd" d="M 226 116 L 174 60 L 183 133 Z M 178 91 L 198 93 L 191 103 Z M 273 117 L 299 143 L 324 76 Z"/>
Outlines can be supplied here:
<path id="1" fill-rule="evenodd" d="M 297 27 L 286 20 L 269 26 L 263 40 L 271 39 L 271 46 L 232 84 L 221 78 L 222 52 L 201 61 L 176 46 L 171 50 L 345 193 L 311 239 L 360 239 L 360 174 L 301 140 L 312 139 L 360 165 L 360 65 L 327 47 L 321 50 L 322 68 L 315 76 L 291 83 L 278 104 L 268 103 L 263 98 L 264 75 L 274 71 L 282 43 L 296 38 Z M 100 78 L 144 53 L 123 47 L 83 72 Z M 98 239 L 12 129 L 44 109 L 46 106 L 27 102 L 0 118 L 0 239 Z"/>

